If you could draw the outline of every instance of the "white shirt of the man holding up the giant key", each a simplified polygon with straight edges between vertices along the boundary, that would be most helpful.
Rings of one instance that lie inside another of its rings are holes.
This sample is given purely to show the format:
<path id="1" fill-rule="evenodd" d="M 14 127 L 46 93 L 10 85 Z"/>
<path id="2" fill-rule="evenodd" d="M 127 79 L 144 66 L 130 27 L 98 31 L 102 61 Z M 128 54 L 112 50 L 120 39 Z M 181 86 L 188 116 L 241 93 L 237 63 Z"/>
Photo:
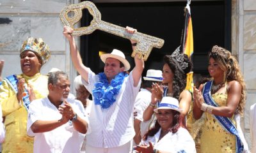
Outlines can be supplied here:
<path id="1" fill-rule="evenodd" d="M 86 89 L 92 94 L 95 83 L 99 82 L 99 75 L 91 70 L 88 73 L 88 83 L 82 79 Z M 100 105 L 92 103 L 90 113 L 91 133 L 86 135 L 87 144 L 98 148 L 118 147 L 128 143 L 135 135 L 133 128 L 133 110 L 136 95 L 140 90 L 140 83 L 133 86 L 132 71 L 124 82 L 116 101 L 109 108 L 102 109 Z M 94 99 L 94 97 L 93 97 Z"/>

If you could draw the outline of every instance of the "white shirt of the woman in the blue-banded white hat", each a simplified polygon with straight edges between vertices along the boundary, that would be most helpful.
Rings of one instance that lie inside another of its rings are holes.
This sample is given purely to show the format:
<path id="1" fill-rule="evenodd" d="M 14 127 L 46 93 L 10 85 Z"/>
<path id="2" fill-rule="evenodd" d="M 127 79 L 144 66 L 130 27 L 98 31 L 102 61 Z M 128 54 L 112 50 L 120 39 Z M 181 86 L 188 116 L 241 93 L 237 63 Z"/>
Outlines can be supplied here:
<path id="1" fill-rule="evenodd" d="M 195 153 L 195 142 L 188 130 L 179 128 L 177 133 L 169 132 L 161 140 L 159 140 L 161 128 L 154 136 L 148 136 L 146 141 L 141 141 L 141 145 L 149 145 L 151 142 L 154 145 L 154 149 L 161 150 L 163 152 L 191 152 Z M 159 140 L 159 141 L 158 141 Z"/>

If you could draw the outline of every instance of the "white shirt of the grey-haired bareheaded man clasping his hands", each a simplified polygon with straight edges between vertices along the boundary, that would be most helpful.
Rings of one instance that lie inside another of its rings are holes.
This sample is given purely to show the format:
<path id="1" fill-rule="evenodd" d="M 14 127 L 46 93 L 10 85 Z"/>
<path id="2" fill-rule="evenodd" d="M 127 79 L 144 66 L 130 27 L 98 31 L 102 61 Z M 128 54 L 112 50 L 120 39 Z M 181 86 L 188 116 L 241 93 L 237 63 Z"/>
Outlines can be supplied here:
<path id="1" fill-rule="evenodd" d="M 70 103 L 77 116 L 89 123 L 81 101 L 67 99 L 67 102 Z M 31 102 L 29 105 L 27 131 L 29 136 L 35 136 L 33 152 L 79 152 L 84 135 L 74 129 L 71 121 L 45 133 L 33 133 L 31 130 L 31 125 L 36 120 L 59 120 L 61 117 L 62 115 L 58 108 L 48 98 L 36 99 Z"/>

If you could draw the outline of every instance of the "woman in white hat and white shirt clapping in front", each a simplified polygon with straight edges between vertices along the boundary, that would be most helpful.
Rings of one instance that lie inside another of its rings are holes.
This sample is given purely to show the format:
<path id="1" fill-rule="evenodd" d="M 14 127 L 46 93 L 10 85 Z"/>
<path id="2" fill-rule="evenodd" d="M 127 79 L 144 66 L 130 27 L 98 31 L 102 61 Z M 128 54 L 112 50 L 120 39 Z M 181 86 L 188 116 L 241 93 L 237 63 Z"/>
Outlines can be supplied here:
<path id="1" fill-rule="evenodd" d="M 152 94 L 152 101 L 155 96 Z M 187 129 L 180 127 L 179 101 L 175 98 L 164 97 L 158 108 L 154 109 L 157 122 L 143 138 L 135 150 L 147 152 L 196 152 L 195 142 Z"/>

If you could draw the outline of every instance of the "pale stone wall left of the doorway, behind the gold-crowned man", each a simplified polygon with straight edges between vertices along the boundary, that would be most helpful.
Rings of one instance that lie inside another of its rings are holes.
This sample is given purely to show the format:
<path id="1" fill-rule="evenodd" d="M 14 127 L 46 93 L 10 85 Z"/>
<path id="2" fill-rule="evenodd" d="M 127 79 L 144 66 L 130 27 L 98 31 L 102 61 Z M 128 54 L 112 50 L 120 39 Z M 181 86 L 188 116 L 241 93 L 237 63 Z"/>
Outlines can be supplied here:
<path id="1" fill-rule="evenodd" d="M 10 21 L 0 24 L 0 59 L 5 61 L 3 77 L 21 73 L 20 46 L 31 36 L 43 38 L 51 50 L 51 59 L 42 67 L 42 74 L 54 67 L 67 72 L 70 80 L 76 77 L 59 17 L 61 9 L 72 3 L 72 0 L 0 0 L 0 18 Z"/>

